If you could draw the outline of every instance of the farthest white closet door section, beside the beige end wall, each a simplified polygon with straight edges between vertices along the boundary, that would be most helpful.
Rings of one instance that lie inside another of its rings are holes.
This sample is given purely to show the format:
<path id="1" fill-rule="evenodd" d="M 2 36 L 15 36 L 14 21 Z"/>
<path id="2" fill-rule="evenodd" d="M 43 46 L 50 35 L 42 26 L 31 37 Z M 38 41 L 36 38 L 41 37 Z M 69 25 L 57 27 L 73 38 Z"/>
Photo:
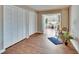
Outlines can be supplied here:
<path id="1" fill-rule="evenodd" d="M 36 18 L 37 14 L 33 11 L 29 11 L 29 35 L 37 32 Z"/>

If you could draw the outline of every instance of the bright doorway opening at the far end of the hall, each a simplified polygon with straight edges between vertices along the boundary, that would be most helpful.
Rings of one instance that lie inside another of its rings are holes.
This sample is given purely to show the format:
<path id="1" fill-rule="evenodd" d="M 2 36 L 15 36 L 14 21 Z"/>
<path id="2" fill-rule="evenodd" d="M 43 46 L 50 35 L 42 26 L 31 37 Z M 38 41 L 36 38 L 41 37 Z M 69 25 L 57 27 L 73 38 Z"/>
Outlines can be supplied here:
<path id="1" fill-rule="evenodd" d="M 43 33 L 47 37 L 59 36 L 59 30 L 61 30 L 61 13 L 56 14 L 43 14 L 42 15 Z"/>

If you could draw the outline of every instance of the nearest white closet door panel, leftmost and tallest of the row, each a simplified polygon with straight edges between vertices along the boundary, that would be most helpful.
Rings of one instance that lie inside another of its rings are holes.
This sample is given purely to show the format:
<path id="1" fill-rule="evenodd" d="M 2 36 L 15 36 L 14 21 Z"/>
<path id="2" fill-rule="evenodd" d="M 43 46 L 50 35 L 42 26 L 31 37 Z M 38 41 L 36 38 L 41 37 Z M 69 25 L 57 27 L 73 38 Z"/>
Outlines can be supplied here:
<path id="1" fill-rule="evenodd" d="M 12 9 L 4 6 L 4 47 L 9 47 L 12 42 Z"/>

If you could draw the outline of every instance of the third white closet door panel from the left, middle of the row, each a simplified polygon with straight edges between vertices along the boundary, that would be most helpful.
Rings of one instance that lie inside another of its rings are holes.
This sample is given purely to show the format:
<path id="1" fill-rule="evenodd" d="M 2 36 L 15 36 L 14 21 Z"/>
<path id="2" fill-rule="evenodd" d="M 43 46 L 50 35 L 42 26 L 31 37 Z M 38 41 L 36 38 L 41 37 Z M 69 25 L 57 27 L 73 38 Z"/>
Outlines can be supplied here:
<path id="1" fill-rule="evenodd" d="M 18 40 L 23 39 L 23 10 L 21 8 L 18 8 Z"/>

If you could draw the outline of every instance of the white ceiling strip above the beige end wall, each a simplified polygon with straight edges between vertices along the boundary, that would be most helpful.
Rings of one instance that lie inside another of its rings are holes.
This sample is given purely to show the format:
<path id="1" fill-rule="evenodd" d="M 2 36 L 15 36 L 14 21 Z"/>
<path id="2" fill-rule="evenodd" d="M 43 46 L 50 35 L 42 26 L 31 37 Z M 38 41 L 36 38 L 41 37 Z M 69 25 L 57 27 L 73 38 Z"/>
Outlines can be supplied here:
<path id="1" fill-rule="evenodd" d="M 45 11 L 51 9 L 62 9 L 69 7 L 69 5 L 29 5 L 28 7 L 33 8 L 36 11 Z"/>

